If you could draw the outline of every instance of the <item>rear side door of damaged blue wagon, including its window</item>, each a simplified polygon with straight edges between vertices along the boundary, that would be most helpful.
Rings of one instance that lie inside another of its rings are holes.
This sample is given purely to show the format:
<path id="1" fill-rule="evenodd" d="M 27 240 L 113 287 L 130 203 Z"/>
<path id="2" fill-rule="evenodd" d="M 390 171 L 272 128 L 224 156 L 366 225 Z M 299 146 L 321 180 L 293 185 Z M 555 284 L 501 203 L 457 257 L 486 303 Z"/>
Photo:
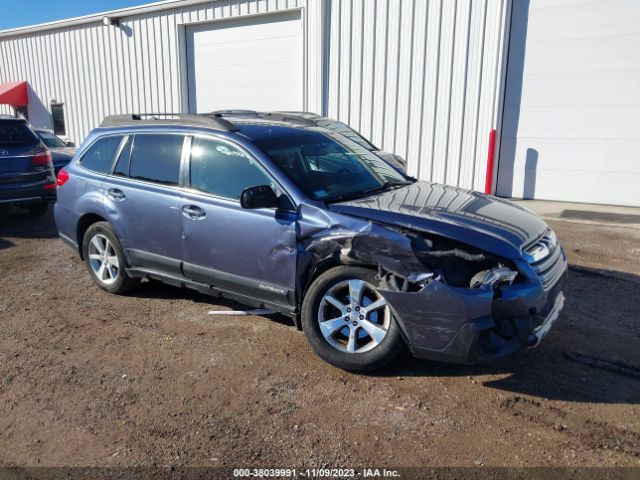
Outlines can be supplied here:
<path id="1" fill-rule="evenodd" d="M 184 141 L 178 133 L 131 135 L 104 179 L 105 211 L 133 268 L 181 275 Z"/>

